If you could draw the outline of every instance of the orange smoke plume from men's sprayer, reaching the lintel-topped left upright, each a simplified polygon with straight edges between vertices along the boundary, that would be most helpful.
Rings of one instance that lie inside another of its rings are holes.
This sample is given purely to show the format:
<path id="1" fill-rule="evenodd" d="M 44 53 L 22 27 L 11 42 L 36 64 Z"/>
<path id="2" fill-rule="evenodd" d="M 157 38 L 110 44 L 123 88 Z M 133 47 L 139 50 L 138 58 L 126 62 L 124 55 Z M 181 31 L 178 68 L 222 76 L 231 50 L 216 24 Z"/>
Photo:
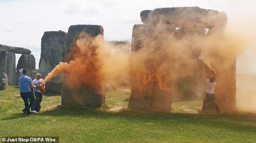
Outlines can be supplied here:
<path id="1" fill-rule="evenodd" d="M 60 62 L 50 72 L 45 82 L 64 72 L 67 87 L 80 88 L 88 84 L 93 88 L 101 87 L 105 82 L 111 86 L 128 83 L 128 56 L 122 53 L 111 53 L 111 45 L 106 43 L 102 35 L 89 37 L 81 32 L 72 50 L 66 57 L 68 63 Z"/>

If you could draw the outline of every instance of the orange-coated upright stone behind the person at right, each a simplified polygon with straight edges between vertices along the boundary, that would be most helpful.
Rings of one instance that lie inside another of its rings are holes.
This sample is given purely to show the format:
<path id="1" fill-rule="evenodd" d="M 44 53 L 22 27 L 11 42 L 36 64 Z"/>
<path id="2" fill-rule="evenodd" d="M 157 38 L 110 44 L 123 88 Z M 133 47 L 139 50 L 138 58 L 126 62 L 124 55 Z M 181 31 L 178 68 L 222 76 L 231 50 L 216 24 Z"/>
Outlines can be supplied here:
<path id="1" fill-rule="evenodd" d="M 222 27 L 223 28 L 223 27 Z M 218 35 L 223 36 L 223 29 L 215 29 L 208 33 L 208 36 Z M 221 38 L 220 38 L 221 39 Z M 214 48 L 211 49 L 210 53 L 219 53 L 221 49 Z M 216 96 L 216 103 L 220 107 L 220 112 L 233 112 L 236 110 L 236 53 L 229 52 L 229 55 L 210 55 L 210 59 L 214 61 L 211 63 L 212 69 L 215 70 L 216 76 L 216 86 L 214 88 L 214 93 Z M 225 61 L 225 62 L 223 62 Z M 211 76 L 210 69 L 204 68 L 204 79 L 207 76 Z M 215 107 L 212 103 L 207 106 L 207 110 L 211 109 L 215 111 Z M 215 111 L 216 112 L 216 111 Z"/>

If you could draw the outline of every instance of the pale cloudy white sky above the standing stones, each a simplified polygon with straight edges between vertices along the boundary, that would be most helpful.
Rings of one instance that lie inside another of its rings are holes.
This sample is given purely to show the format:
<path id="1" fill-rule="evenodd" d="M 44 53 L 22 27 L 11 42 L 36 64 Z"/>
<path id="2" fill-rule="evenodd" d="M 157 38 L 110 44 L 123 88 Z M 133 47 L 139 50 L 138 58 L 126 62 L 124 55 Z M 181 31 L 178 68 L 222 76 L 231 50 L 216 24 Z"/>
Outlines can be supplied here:
<path id="1" fill-rule="evenodd" d="M 254 0 L 0 0 L 0 44 L 30 49 L 38 69 L 45 31 L 67 32 L 70 25 L 78 24 L 102 25 L 106 40 L 131 40 L 133 25 L 142 24 L 142 10 L 185 6 L 227 12 L 229 23 L 242 23 L 241 29 L 256 21 Z M 16 54 L 16 64 L 19 57 Z M 237 72 L 256 73 L 255 57 L 252 49 L 239 55 Z"/>

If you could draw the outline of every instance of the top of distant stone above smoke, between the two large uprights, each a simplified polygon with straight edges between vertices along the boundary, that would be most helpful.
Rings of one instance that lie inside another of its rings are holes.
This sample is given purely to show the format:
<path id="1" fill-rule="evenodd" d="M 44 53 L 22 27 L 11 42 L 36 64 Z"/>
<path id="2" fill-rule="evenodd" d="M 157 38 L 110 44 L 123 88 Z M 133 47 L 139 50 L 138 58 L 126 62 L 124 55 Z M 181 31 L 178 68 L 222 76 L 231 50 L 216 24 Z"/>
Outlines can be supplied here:
<path id="1" fill-rule="evenodd" d="M 113 46 L 115 51 L 122 53 L 130 53 L 130 41 L 109 41 L 109 44 Z"/>

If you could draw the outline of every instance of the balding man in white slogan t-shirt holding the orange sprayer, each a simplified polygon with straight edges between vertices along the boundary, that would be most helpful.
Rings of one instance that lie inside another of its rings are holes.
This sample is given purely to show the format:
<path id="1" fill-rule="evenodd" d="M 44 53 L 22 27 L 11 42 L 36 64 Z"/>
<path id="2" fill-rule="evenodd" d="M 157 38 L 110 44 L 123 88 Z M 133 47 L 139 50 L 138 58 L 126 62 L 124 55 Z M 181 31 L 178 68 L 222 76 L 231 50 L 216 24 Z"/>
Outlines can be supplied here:
<path id="1" fill-rule="evenodd" d="M 32 81 L 32 84 L 36 86 L 35 88 L 35 96 L 36 96 L 36 112 L 40 112 L 41 108 L 41 102 L 43 98 L 43 94 L 39 88 L 40 84 L 44 82 L 44 80 L 41 78 L 41 74 L 36 74 L 36 79 Z M 45 85 L 43 85 L 45 87 Z"/>

